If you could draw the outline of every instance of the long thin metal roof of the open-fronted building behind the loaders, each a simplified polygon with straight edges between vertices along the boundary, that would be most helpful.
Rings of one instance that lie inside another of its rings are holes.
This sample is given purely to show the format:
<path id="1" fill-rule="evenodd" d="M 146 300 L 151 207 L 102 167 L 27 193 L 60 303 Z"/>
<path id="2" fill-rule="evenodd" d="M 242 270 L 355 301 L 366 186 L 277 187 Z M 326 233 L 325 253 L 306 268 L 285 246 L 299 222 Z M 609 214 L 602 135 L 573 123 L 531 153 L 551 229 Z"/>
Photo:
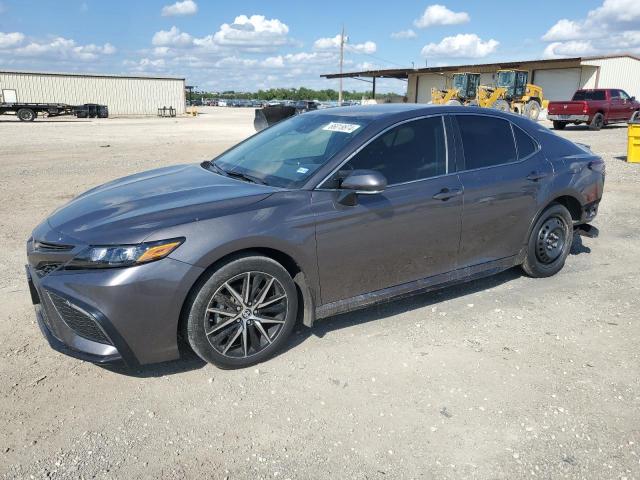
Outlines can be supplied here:
<path id="1" fill-rule="evenodd" d="M 446 67 L 427 67 L 427 68 L 393 68 L 386 70 L 364 70 L 360 72 L 345 72 L 345 73 L 325 73 L 320 75 L 324 78 L 353 78 L 353 77 L 376 77 L 376 78 L 408 78 L 409 74 L 415 73 L 443 73 L 454 72 L 460 70 L 473 70 L 474 68 L 522 68 L 532 63 L 536 64 L 554 64 L 554 63 L 571 63 L 575 62 L 580 64 L 583 60 L 601 60 L 607 58 L 620 58 L 630 57 L 635 60 L 639 60 L 639 57 L 629 54 L 619 55 L 601 55 L 596 57 L 571 57 L 571 58 L 550 58 L 542 60 L 522 60 L 514 62 L 496 62 L 496 63 L 475 63 L 467 65 L 448 65 Z"/>

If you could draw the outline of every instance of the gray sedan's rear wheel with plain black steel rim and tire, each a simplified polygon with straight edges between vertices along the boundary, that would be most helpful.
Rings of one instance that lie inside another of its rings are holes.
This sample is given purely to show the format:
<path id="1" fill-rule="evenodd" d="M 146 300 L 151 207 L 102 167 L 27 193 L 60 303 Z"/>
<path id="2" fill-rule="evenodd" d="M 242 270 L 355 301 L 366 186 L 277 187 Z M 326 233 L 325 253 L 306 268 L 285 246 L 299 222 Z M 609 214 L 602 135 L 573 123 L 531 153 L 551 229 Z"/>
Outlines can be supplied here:
<path id="1" fill-rule="evenodd" d="M 573 221 L 569 210 L 552 203 L 540 214 L 531 230 L 522 269 L 534 278 L 555 275 L 564 267 L 572 242 Z"/>

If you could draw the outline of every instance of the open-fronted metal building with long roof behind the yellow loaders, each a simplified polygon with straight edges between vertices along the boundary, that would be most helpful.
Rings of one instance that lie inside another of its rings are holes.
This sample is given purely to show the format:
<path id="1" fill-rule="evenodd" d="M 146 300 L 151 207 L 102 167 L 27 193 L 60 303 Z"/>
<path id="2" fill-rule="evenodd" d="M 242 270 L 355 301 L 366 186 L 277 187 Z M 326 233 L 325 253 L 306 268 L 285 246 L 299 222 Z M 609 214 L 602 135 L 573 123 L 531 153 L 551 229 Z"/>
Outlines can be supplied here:
<path id="1" fill-rule="evenodd" d="M 451 86 L 454 73 L 480 73 L 483 85 L 494 83 L 499 69 L 520 69 L 529 72 L 529 83 L 542 87 L 549 100 L 568 100 L 580 88 L 621 88 L 640 98 L 640 58 L 633 55 L 575 57 L 522 62 L 455 65 L 419 69 L 369 70 L 343 74 L 322 75 L 325 78 L 370 78 L 375 92 L 376 78 L 397 78 L 407 81 L 409 102 L 431 101 L 431 88 Z"/>

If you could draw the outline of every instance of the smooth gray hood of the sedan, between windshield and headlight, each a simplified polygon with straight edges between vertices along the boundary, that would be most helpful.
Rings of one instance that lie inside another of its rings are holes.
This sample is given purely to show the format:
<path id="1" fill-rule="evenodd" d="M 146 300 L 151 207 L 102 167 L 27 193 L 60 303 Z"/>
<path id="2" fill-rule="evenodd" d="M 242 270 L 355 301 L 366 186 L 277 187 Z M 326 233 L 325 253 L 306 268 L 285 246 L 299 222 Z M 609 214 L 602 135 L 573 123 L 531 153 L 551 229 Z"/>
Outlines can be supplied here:
<path id="1" fill-rule="evenodd" d="M 89 190 L 52 213 L 47 222 L 83 243 L 139 243 L 155 230 L 227 215 L 277 190 L 200 165 L 166 167 Z"/>

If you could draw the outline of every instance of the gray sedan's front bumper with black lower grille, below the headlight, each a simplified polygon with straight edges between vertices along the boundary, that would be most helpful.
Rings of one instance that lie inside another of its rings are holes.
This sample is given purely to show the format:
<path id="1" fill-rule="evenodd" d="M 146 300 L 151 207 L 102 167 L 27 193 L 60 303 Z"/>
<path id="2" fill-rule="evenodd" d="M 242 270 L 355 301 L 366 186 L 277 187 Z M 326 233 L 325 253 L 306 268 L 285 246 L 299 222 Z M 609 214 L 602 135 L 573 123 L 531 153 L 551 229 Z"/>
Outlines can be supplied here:
<path id="1" fill-rule="evenodd" d="M 38 324 L 52 348 L 93 363 L 123 361 L 130 367 L 179 357 L 182 304 L 201 273 L 171 258 L 45 275 L 27 266 Z M 70 321 L 69 315 L 76 318 Z"/>

